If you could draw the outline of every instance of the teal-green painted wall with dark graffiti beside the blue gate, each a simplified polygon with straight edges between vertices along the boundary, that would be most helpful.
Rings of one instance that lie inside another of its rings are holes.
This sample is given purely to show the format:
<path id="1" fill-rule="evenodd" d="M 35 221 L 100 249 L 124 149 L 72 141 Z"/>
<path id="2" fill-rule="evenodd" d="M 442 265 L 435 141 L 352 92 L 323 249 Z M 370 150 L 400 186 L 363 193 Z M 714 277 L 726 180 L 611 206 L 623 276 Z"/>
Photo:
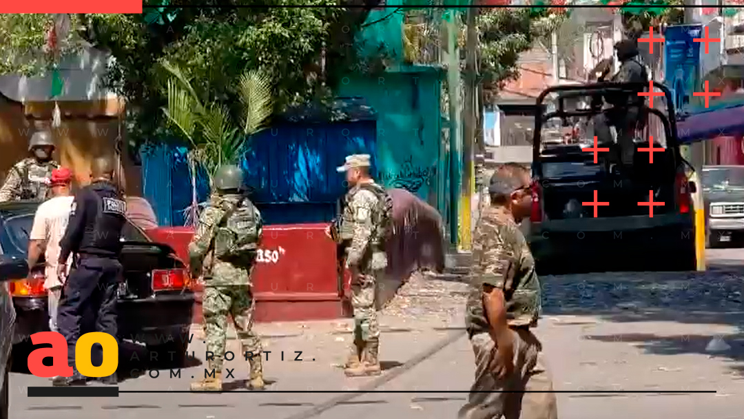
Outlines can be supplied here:
<path id="1" fill-rule="evenodd" d="M 388 70 L 379 75 L 351 74 L 339 86 L 339 96 L 364 97 L 377 114 L 379 180 L 389 188 L 405 188 L 446 214 L 449 165 L 442 141 L 441 80 L 438 66 L 403 63 L 403 0 L 372 10 L 357 45 L 368 56 L 385 51 Z"/>

